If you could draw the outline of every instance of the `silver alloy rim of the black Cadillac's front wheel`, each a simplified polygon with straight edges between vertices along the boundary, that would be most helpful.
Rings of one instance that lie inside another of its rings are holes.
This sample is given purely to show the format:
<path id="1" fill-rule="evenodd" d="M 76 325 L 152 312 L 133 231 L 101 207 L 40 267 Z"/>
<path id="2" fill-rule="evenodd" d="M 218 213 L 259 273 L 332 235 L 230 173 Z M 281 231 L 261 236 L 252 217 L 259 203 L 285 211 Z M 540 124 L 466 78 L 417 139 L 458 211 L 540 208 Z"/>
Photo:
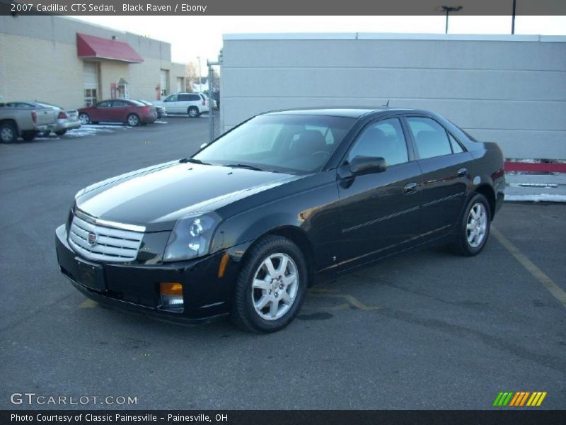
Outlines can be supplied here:
<path id="1" fill-rule="evenodd" d="M 299 272 L 296 263 L 287 254 L 268 256 L 252 280 L 252 304 L 255 312 L 266 320 L 283 317 L 296 299 Z"/>

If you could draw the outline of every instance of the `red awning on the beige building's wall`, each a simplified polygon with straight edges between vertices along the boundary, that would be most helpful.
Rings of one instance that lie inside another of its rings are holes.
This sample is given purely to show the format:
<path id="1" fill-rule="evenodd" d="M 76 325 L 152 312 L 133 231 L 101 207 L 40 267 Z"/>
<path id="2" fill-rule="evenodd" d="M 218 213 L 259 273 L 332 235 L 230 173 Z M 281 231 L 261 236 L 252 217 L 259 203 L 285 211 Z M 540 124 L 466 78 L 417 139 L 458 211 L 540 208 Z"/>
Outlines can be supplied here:
<path id="1" fill-rule="evenodd" d="M 144 58 L 127 42 L 76 33 L 76 54 L 81 58 L 120 60 L 139 64 Z"/>

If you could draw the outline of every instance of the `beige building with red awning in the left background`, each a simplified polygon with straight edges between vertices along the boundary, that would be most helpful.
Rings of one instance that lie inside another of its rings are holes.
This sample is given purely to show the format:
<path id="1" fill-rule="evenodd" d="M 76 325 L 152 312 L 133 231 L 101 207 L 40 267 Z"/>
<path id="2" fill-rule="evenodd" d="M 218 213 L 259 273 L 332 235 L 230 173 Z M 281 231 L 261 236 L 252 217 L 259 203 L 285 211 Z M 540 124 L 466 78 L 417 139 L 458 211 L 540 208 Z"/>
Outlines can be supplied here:
<path id="1" fill-rule="evenodd" d="M 62 16 L 0 16 L 0 96 L 80 108 L 185 90 L 171 45 Z"/>

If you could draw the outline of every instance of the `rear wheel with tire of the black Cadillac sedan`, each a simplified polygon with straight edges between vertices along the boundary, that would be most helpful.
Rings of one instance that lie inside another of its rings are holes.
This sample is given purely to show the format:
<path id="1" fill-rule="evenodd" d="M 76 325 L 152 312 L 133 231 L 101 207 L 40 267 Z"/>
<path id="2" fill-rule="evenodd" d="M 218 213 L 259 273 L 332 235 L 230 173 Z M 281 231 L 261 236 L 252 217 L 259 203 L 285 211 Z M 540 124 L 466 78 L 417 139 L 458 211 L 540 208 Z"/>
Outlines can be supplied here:
<path id="1" fill-rule="evenodd" d="M 480 254 L 490 236 L 490 228 L 490 203 L 481 193 L 476 193 L 468 201 L 456 228 L 456 241 L 452 246 L 456 254 L 462 256 Z"/>

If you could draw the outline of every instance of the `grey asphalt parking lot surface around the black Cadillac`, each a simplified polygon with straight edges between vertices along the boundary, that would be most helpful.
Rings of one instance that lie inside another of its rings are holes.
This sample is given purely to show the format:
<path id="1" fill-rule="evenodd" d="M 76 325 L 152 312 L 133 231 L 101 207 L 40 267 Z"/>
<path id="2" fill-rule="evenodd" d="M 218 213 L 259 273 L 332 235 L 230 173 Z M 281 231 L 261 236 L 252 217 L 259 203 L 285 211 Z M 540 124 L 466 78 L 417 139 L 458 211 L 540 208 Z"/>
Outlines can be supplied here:
<path id="1" fill-rule="evenodd" d="M 29 408 L 14 392 L 137 409 L 490 409 L 500 391 L 545 391 L 541 408 L 566 407 L 562 204 L 506 203 L 480 256 L 427 249 L 313 288 L 277 334 L 87 300 L 58 271 L 54 229 L 83 186 L 207 140 L 204 118 L 166 121 L 0 145 L 0 409 Z"/>

